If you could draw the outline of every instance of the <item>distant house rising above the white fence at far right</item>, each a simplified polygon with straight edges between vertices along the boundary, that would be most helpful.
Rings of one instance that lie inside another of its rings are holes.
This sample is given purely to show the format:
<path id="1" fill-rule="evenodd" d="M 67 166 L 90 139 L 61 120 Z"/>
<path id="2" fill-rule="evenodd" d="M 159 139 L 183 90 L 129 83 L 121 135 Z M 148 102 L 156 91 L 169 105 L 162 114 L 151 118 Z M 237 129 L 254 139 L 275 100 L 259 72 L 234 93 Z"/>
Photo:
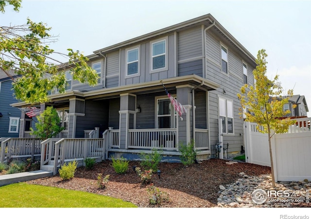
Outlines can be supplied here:
<path id="1" fill-rule="evenodd" d="M 296 108 L 293 108 L 294 104 Z M 289 117 L 307 117 L 307 112 L 309 112 L 305 96 L 300 96 L 299 94 L 290 97 L 288 103 L 284 104 L 283 110 L 291 110 Z"/>

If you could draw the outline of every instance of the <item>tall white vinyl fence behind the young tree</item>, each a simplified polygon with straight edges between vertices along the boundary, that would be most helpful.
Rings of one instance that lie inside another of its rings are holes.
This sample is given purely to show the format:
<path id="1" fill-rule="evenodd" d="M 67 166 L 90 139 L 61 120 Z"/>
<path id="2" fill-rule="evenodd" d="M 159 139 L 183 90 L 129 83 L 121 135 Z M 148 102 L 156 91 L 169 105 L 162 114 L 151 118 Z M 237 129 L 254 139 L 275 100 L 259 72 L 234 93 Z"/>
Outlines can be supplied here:
<path id="1" fill-rule="evenodd" d="M 296 125 L 289 127 L 288 133 L 271 138 L 276 181 L 311 180 L 311 118 L 295 120 Z M 246 162 L 271 166 L 268 134 L 256 127 L 256 123 L 244 123 Z"/>

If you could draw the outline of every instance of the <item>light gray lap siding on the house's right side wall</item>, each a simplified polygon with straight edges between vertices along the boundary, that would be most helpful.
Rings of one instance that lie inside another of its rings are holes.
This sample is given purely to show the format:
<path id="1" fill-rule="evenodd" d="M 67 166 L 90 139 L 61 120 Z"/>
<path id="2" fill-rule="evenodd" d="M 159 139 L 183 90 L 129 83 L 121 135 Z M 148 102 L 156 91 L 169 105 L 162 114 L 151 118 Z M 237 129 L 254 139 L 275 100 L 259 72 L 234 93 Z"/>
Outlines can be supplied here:
<path id="1" fill-rule="evenodd" d="M 234 133 L 223 135 L 223 147 L 227 148 L 227 152 L 239 152 L 241 146 L 243 146 L 243 128 L 242 119 L 240 118 L 239 108 L 241 107 L 240 101 L 237 97 L 237 93 L 243 85 L 243 69 L 242 69 L 242 57 L 235 53 L 233 49 L 226 44 L 228 49 L 228 73 L 221 72 L 221 44 L 214 35 L 207 33 L 206 37 L 206 58 L 207 58 L 207 79 L 212 80 L 221 85 L 216 91 L 209 91 L 209 132 L 210 143 L 213 149 L 212 153 L 215 153 L 214 145 L 218 142 L 218 98 L 222 96 L 226 99 L 233 101 L 233 123 Z M 251 66 L 247 64 L 248 69 L 248 81 L 249 84 L 253 84 L 253 76 Z M 225 91 L 225 92 L 224 92 Z"/>

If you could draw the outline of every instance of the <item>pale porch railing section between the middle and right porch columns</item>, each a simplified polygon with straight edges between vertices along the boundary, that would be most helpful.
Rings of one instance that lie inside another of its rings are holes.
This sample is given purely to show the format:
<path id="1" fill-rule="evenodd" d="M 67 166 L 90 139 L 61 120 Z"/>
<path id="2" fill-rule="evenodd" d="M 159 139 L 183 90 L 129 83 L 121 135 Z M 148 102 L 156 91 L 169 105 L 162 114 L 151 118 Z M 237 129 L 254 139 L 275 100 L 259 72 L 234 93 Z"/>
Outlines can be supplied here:
<path id="1" fill-rule="evenodd" d="M 176 146 L 175 128 L 153 128 L 153 129 L 129 129 L 128 148 L 162 148 L 163 150 L 178 150 Z"/>

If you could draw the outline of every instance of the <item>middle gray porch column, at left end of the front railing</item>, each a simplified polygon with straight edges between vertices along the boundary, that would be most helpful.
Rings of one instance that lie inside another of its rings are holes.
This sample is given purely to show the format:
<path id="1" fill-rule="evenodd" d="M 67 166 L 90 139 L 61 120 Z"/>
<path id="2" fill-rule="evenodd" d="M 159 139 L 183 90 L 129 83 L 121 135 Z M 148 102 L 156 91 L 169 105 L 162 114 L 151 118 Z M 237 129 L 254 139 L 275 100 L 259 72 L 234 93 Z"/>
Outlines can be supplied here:
<path id="1" fill-rule="evenodd" d="M 127 149 L 128 129 L 135 128 L 136 123 L 136 95 L 132 93 L 120 94 L 120 149 Z"/>

